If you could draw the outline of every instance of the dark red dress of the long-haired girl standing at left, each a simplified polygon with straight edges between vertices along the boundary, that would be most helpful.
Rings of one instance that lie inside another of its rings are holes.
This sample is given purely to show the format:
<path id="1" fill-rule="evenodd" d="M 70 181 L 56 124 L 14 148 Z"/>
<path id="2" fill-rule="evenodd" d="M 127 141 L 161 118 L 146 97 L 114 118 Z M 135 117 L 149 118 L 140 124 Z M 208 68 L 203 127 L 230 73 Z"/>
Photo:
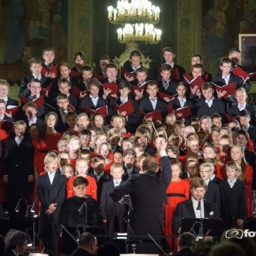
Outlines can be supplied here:
<path id="1" fill-rule="evenodd" d="M 60 138 L 60 133 L 46 133 L 46 135 L 44 136 L 44 140 L 38 142 L 38 135 L 35 135 L 32 144 L 35 147 L 34 167 L 38 168 L 38 175 L 40 174 L 40 172 L 44 171 L 44 158 L 46 157 L 48 151 L 58 150 L 58 142 Z"/>

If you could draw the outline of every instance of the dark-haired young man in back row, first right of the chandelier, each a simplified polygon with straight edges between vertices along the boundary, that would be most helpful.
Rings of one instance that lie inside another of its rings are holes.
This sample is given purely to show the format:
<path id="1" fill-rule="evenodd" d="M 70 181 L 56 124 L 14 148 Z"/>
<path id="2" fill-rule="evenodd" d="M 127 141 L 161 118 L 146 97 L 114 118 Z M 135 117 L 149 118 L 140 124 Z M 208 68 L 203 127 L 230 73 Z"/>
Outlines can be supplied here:
<path id="1" fill-rule="evenodd" d="M 183 67 L 174 63 L 174 58 L 175 58 L 174 48 L 164 47 L 163 48 L 163 57 L 164 57 L 164 60 L 166 60 L 166 64 L 171 66 L 172 71 L 174 71 L 174 69 L 177 69 L 177 72 L 179 73 L 179 77 L 176 77 L 174 75 L 175 73 L 173 73 L 173 79 L 177 82 L 183 80 L 183 74 L 186 71 Z M 156 80 L 158 82 L 161 81 L 161 79 L 162 79 L 159 69 L 160 69 L 160 65 L 154 69 L 154 80 Z"/>

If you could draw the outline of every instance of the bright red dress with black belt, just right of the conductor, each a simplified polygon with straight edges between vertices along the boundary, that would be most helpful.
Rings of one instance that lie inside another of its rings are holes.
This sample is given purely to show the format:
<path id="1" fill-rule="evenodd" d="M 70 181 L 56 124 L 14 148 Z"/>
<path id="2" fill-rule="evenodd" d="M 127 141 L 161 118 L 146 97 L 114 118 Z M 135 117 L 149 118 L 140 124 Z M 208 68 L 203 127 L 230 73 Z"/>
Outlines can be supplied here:
<path id="1" fill-rule="evenodd" d="M 171 181 L 166 193 L 168 204 L 164 204 L 164 234 L 166 236 L 175 236 L 172 231 L 172 218 L 177 204 L 189 199 L 190 184 L 186 180 Z M 177 238 L 167 238 L 172 250 L 177 251 Z"/>

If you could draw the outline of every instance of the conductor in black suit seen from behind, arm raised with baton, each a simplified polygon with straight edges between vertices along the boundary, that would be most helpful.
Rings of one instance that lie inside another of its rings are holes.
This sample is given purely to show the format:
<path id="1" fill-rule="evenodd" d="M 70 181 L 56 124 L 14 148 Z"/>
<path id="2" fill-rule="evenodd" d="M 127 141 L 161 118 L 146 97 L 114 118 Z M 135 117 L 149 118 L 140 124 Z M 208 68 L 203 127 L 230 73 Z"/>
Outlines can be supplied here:
<path id="1" fill-rule="evenodd" d="M 130 221 L 127 236 L 130 239 L 139 238 L 141 245 L 137 245 L 137 253 L 159 253 L 158 247 L 148 238 L 140 238 L 151 234 L 160 244 L 163 225 L 163 203 L 166 201 L 166 189 L 171 181 L 172 171 L 170 160 L 166 155 L 167 143 L 160 141 L 162 170 L 153 156 L 147 156 L 142 164 L 142 174 L 134 174 L 114 188 L 110 197 L 117 202 L 123 196 L 130 196 Z M 131 250 L 127 247 L 127 253 Z"/>

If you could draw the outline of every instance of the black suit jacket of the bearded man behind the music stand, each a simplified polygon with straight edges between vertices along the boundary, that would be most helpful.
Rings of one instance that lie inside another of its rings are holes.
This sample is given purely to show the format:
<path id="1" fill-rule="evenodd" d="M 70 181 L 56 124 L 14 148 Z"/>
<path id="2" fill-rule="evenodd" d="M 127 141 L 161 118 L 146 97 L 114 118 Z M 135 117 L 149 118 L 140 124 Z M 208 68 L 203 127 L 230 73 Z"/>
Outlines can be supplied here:
<path id="1" fill-rule="evenodd" d="M 181 227 L 182 218 L 196 218 L 193 208 L 192 199 L 188 199 L 177 204 L 172 220 L 172 230 L 179 235 L 179 228 Z M 204 218 L 218 219 L 218 210 L 215 204 L 210 203 L 204 199 Z"/>

